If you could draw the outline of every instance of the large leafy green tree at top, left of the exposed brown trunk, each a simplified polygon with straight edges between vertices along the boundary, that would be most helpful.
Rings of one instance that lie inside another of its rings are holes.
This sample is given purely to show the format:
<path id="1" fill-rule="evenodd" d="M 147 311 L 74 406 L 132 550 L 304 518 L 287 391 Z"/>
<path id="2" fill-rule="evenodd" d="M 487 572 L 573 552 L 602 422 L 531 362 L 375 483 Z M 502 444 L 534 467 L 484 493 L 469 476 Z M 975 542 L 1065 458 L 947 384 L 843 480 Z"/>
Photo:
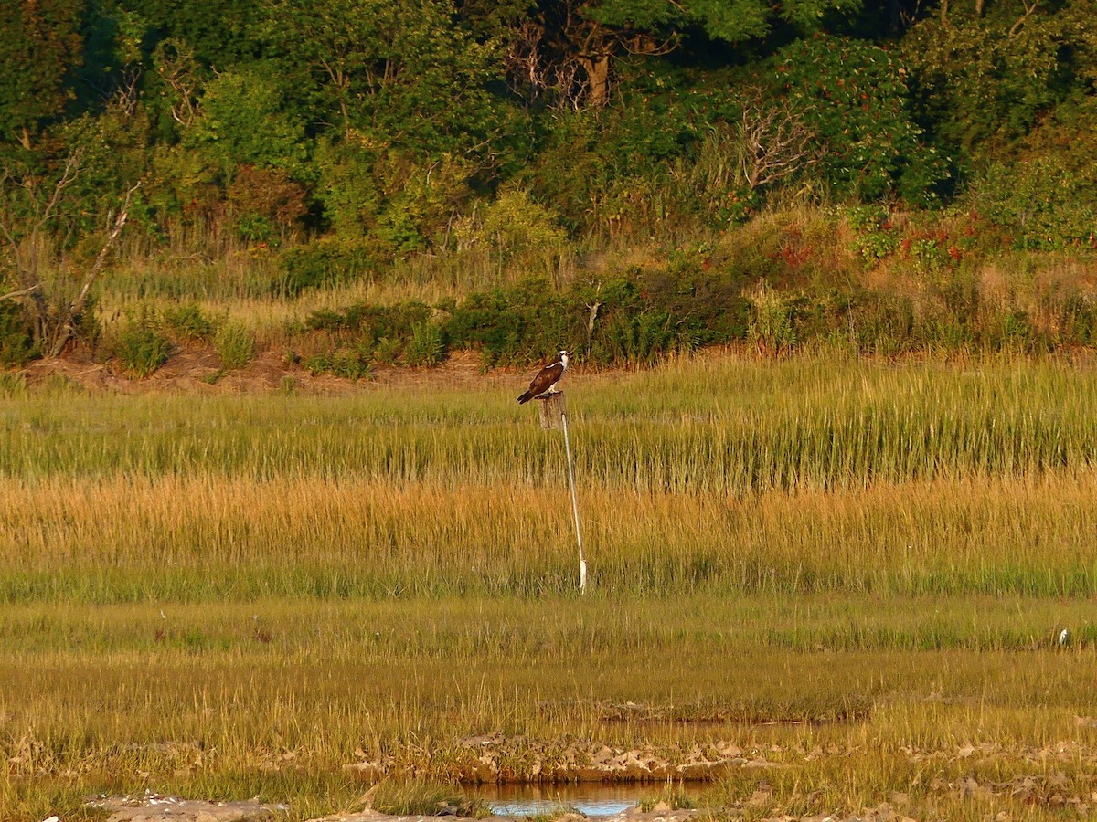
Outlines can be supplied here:
<path id="1" fill-rule="evenodd" d="M 490 153 L 506 132 L 496 48 L 449 0 L 268 0 L 263 36 L 315 91 L 317 119 L 415 150 Z"/>

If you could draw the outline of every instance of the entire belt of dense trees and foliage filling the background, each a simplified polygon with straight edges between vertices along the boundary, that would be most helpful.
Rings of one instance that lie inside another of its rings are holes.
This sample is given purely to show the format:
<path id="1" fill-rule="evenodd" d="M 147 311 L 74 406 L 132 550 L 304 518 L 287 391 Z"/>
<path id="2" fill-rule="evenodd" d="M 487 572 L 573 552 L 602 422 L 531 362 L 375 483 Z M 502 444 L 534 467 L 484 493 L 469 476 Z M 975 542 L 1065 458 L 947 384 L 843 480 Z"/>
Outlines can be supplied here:
<path id="1" fill-rule="evenodd" d="M 138 181 L 151 242 L 216 224 L 377 259 L 452 247 L 500 193 L 576 237 L 727 227 L 782 192 L 1004 204 L 1018 161 L 1058 170 L 1025 185 L 1097 180 L 1066 149 L 1092 141 L 1095 20 L 1094 0 L 7 3 L 0 160 L 25 193 L 81 158 L 63 247 Z"/>

